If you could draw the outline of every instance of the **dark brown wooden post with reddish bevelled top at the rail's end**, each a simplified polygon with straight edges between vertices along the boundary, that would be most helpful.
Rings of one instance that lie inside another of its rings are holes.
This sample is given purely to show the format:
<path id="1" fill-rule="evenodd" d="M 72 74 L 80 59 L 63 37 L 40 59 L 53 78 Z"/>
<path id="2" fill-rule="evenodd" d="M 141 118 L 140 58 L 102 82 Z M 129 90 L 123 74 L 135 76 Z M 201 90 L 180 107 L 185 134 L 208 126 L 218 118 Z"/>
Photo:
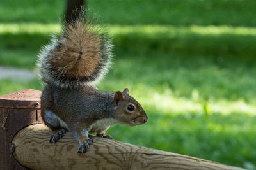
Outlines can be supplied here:
<path id="1" fill-rule="evenodd" d="M 42 122 L 41 94 L 38 90 L 26 89 L 0 96 L 0 169 L 27 169 L 15 160 L 10 147 L 13 136 L 20 129 Z"/>

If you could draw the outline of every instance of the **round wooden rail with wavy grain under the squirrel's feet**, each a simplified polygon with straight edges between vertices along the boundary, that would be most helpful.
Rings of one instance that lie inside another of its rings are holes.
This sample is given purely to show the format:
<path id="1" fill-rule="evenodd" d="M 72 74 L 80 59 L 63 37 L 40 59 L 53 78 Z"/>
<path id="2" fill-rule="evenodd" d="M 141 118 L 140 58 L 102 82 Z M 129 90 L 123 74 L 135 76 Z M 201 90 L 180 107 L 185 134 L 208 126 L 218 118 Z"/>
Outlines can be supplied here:
<path id="1" fill-rule="evenodd" d="M 88 152 L 78 155 L 70 132 L 54 144 L 51 134 L 43 124 L 22 129 L 13 138 L 13 155 L 31 169 L 241 169 L 95 136 Z"/>

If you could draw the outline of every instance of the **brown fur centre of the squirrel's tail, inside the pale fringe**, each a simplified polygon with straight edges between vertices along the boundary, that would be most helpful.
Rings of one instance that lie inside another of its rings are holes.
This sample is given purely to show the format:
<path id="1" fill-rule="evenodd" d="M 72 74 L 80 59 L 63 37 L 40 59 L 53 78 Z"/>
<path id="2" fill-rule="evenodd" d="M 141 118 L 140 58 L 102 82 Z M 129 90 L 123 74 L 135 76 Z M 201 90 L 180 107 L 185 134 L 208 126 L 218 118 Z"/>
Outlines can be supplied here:
<path id="1" fill-rule="evenodd" d="M 100 62 L 100 35 L 82 19 L 67 25 L 65 41 L 50 60 L 52 71 L 67 77 L 90 76 Z"/>

